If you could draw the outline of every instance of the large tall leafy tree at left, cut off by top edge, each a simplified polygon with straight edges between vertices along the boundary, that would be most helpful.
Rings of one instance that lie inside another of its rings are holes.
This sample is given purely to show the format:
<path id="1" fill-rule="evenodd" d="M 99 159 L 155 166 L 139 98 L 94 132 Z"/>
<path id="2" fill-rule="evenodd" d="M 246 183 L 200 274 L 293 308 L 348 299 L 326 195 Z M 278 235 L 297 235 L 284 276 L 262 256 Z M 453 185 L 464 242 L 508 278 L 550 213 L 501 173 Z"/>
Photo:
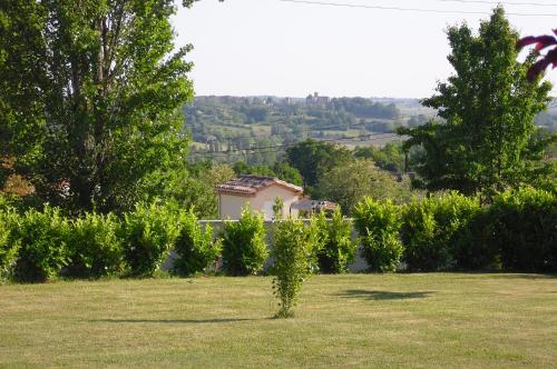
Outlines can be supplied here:
<path id="1" fill-rule="evenodd" d="M 173 51 L 175 11 L 172 0 L 0 3 L 0 156 L 41 200 L 121 210 L 185 164 L 192 64 L 189 47 Z"/>

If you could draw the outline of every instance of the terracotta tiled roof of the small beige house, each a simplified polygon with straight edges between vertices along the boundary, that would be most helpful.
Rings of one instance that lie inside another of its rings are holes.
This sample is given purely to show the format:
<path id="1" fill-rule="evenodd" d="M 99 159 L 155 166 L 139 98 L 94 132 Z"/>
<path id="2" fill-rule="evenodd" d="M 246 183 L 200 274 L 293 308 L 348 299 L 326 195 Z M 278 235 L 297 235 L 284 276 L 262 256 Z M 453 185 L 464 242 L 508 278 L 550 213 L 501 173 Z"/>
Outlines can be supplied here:
<path id="1" fill-rule="evenodd" d="M 216 190 L 221 193 L 237 193 L 244 196 L 255 196 L 258 191 L 270 187 L 280 186 L 295 193 L 302 193 L 303 189 L 299 186 L 285 182 L 278 178 L 261 177 L 261 176 L 240 176 L 233 178 L 226 183 L 216 186 Z"/>

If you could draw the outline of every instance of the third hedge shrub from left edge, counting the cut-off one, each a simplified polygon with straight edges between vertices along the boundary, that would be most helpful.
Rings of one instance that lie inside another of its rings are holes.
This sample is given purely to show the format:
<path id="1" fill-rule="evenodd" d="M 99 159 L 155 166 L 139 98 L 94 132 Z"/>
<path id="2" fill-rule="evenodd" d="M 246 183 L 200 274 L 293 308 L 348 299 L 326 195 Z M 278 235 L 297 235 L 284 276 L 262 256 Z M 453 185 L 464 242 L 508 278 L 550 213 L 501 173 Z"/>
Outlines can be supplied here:
<path id="1" fill-rule="evenodd" d="M 69 238 L 70 262 L 65 275 L 100 278 L 124 270 L 124 250 L 119 220 L 114 215 L 86 213 L 71 223 Z"/>

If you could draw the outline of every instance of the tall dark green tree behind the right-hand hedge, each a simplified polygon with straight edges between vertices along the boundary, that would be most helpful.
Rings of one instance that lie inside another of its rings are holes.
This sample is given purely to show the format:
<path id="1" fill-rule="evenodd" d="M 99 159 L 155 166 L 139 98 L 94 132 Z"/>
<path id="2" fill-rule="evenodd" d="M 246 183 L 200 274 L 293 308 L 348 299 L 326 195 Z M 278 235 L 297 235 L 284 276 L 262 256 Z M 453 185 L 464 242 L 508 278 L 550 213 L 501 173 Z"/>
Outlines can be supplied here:
<path id="1" fill-rule="evenodd" d="M 518 33 L 500 7 L 481 22 L 478 36 L 462 24 L 449 28 L 448 39 L 456 73 L 422 102 L 444 122 L 399 130 L 410 137 L 407 149 L 424 149 L 416 166 L 421 186 L 489 193 L 528 182 L 534 119 L 549 102 L 550 84 L 527 81 L 534 57 L 516 61 Z"/>

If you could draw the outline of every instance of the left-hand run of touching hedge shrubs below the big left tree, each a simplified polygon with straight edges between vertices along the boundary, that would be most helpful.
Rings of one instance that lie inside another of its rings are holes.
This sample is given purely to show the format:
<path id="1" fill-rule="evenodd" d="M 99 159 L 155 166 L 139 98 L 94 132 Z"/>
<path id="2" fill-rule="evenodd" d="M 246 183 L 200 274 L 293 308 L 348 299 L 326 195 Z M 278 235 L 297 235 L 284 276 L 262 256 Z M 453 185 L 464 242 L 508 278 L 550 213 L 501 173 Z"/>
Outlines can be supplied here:
<path id="1" fill-rule="evenodd" d="M 153 276 L 176 250 L 174 272 L 204 270 L 221 251 L 193 211 L 138 205 L 123 218 L 63 217 L 46 206 L 18 215 L 0 203 L 0 279 L 43 282 L 58 277 Z"/>

